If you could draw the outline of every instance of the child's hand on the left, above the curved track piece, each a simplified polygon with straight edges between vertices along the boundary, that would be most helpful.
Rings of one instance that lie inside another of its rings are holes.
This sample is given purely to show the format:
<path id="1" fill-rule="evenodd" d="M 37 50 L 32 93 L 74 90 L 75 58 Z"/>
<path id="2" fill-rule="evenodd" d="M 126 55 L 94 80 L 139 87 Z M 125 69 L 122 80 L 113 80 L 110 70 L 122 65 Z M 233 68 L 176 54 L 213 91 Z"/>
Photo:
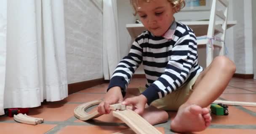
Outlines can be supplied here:
<path id="1" fill-rule="evenodd" d="M 100 114 L 110 113 L 109 105 L 123 101 L 123 95 L 120 87 L 112 87 L 98 106 L 98 112 Z"/>

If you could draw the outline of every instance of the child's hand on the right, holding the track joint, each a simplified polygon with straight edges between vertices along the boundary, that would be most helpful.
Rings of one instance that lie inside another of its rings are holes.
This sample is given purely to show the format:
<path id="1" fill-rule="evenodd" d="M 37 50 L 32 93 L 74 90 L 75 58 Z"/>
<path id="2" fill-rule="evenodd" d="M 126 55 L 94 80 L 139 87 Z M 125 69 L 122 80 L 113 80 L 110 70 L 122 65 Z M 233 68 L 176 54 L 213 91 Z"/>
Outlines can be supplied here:
<path id="1" fill-rule="evenodd" d="M 141 115 L 144 112 L 145 106 L 147 103 L 147 98 L 144 95 L 139 95 L 133 98 L 127 98 L 122 102 L 124 105 L 132 105 L 134 108 L 134 112 Z"/>

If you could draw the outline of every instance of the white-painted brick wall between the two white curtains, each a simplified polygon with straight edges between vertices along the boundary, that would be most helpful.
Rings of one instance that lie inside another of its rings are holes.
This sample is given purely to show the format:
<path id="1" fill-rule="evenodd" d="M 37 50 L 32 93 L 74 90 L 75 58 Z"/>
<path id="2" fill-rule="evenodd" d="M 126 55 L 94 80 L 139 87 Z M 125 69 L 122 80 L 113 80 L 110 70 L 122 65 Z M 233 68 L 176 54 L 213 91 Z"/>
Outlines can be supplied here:
<path id="1" fill-rule="evenodd" d="M 96 5 L 99 5 L 98 7 Z M 64 0 L 68 83 L 103 77 L 102 0 Z"/>

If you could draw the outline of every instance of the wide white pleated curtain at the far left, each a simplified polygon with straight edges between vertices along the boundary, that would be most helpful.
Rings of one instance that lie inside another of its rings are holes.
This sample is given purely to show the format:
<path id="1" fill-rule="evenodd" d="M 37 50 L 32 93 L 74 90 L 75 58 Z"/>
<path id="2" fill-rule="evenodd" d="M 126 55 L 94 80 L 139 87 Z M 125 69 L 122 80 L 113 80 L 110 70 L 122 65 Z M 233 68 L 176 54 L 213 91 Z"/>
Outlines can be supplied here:
<path id="1" fill-rule="evenodd" d="M 67 97 L 63 0 L 0 0 L 0 115 Z"/>

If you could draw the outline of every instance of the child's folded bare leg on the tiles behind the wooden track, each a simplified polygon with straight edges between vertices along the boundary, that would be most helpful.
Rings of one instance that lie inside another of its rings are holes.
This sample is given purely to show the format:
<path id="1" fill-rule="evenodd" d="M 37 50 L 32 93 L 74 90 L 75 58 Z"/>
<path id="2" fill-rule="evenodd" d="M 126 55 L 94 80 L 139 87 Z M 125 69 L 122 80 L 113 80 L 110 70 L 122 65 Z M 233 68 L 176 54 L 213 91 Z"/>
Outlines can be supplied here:
<path id="1" fill-rule="evenodd" d="M 140 95 L 138 89 L 128 88 L 126 91 L 125 98 L 131 98 Z M 124 99 L 125 99 L 124 98 Z M 147 120 L 150 124 L 160 124 L 168 121 L 168 113 L 164 110 L 160 110 L 154 106 L 146 106 L 144 113 L 141 115 L 145 120 Z"/>

